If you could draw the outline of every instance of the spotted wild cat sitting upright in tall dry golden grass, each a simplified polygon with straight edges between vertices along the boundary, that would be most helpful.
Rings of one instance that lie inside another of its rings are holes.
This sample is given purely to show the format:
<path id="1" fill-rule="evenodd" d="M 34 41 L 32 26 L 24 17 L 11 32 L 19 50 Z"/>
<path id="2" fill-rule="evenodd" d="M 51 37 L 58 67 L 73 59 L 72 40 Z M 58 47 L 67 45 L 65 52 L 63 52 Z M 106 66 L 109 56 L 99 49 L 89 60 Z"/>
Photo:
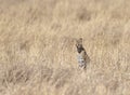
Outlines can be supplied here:
<path id="1" fill-rule="evenodd" d="M 82 38 L 76 40 L 76 48 L 78 52 L 78 65 L 79 68 L 86 69 L 87 64 L 90 62 L 90 57 L 88 56 L 84 48 L 82 46 Z"/>

